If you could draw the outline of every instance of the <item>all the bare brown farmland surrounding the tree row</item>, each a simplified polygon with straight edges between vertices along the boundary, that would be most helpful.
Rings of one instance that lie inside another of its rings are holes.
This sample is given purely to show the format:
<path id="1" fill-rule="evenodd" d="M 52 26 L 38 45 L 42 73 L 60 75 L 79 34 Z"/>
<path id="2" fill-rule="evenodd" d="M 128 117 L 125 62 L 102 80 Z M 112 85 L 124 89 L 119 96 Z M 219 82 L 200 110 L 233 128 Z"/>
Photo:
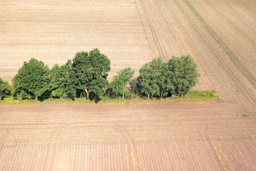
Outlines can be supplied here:
<path id="1" fill-rule="evenodd" d="M 98 48 L 111 76 L 191 54 L 221 101 L 0 103 L 0 170 L 256 170 L 255 1 L 1 1 L 0 77 Z"/>

